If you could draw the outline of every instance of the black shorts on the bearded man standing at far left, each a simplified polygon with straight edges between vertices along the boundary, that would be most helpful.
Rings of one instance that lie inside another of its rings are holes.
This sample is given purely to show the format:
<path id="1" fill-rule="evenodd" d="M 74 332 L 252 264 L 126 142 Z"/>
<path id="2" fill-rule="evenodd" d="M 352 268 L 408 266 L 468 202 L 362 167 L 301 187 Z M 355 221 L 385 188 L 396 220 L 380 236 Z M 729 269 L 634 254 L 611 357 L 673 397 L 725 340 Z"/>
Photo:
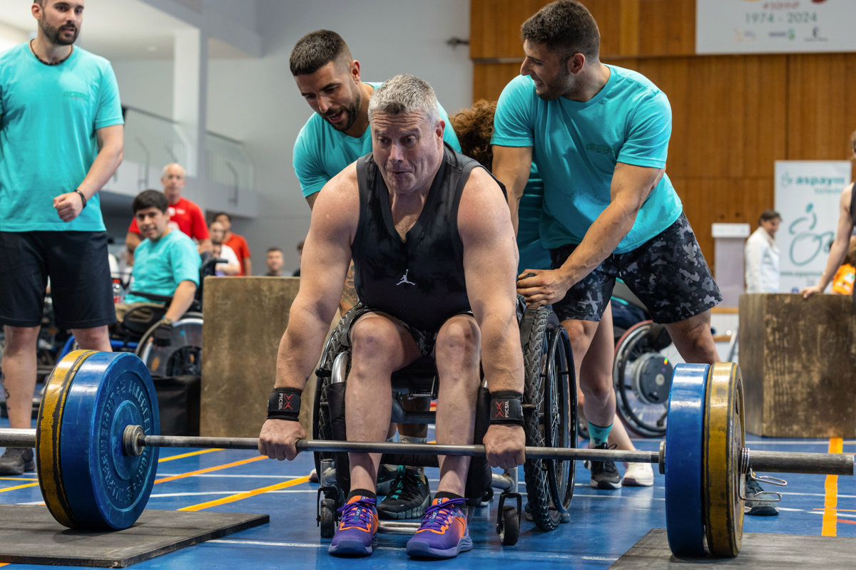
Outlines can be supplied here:
<path id="1" fill-rule="evenodd" d="M 0 324 L 38 326 L 51 278 L 56 326 L 116 322 L 106 232 L 0 232 Z"/>

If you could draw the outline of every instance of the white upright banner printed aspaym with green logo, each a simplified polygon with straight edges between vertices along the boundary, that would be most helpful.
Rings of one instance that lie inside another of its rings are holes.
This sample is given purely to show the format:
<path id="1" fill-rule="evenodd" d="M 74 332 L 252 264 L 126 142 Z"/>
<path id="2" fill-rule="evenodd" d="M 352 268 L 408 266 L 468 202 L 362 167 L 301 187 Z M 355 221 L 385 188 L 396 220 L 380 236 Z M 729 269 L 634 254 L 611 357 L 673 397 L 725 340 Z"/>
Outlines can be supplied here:
<path id="1" fill-rule="evenodd" d="M 841 191 L 849 184 L 848 161 L 776 161 L 783 293 L 817 285 L 838 227 Z"/>

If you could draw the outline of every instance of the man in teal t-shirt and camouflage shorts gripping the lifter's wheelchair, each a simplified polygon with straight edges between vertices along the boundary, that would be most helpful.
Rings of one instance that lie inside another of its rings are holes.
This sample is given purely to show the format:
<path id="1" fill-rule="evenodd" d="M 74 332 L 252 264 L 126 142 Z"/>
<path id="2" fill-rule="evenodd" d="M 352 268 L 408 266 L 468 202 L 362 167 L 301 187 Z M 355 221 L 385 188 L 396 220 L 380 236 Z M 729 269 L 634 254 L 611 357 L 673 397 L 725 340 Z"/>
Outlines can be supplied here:
<path id="1" fill-rule="evenodd" d="M 518 292 L 528 304 L 552 303 L 578 378 L 617 277 L 668 323 L 687 361 L 718 361 L 710 308 L 722 297 L 664 171 L 668 99 L 639 73 L 600 62 L 597 23 L 575 0 L 548 4 L 521 31 L 526 58 L 497 104 L 493 173 L 508 189 L 516 226 L 532 162 L 538 167 L 538 232 L 555 269 L 526 268 Z M 580 387 L 591 444 L 605 447 L 615 418 L 611 378 L 586 376 Z M 592 485 L 601 474 L 597 485 L 621 485 L 611 463 L 592 463 Z"/>

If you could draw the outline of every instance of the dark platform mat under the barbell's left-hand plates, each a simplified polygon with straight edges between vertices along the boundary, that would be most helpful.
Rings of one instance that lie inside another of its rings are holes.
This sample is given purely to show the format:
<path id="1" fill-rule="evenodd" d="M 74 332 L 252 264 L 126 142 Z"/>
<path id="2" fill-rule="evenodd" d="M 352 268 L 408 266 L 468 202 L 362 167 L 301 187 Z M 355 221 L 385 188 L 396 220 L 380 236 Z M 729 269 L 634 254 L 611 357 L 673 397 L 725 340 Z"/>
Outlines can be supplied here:
<path id="1" fill-rule="evenodd" d="M 0 505 L 0 562 L 122 568 L 269 520 L 267 514 L 147 508 L 124 531 L 73 531 L 46 507 Z"/>

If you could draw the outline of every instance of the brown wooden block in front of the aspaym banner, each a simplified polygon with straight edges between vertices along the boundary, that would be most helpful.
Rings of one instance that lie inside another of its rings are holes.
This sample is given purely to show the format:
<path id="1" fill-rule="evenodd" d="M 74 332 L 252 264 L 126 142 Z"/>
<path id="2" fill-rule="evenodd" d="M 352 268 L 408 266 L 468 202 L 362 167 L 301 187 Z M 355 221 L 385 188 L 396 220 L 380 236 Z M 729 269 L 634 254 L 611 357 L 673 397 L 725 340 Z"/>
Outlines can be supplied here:
<path id="1" fill-rule="evenodd" d="M 746 431 L 856 437 L 856 317 L 841 295 L 740 296 Z"/>

